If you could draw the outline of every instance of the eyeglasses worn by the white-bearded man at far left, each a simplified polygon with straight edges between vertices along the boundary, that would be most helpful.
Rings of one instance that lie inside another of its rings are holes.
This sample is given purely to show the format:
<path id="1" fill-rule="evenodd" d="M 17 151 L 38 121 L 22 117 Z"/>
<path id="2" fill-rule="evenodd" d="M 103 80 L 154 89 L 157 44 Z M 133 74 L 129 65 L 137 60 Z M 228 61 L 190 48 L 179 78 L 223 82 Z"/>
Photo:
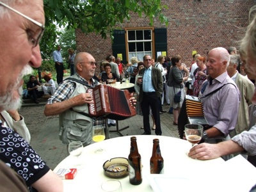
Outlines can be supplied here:
<path id="1" fill-rule="evenodd" d="M 0 4 L 2 6 L 4 6 L 5 8 L 8 8 L 9 10 L 12 10 L 13 12 L 19 14 L 20 16 L 28 19 L 29 21 L 33 22 L 33 24 L 36 24 L 36 26 L 40 27 L 41 28 L 41 31 L 40 33 L 36 36 L 36 38 L 33 38 L 33 37 L 29 37 L 29 42 L 31 45 L 33 45 L 33 47 L 36 47 L 38 45 L 38 43 L 40 42 L 43 34 L 44 34 L 44 29 L 45 29 L 45 26 L 43 24 L 41 24 L 40 22 L 34 20 L 34 19 L 31 19 L 30 17 L 24 15 L 23 13 L 20 13 L 18 12 L 17 10 L 11 8 L 10 6 L 8 6 L 7 4 L 4 4 L 3 2 L 0 1 Z"/>

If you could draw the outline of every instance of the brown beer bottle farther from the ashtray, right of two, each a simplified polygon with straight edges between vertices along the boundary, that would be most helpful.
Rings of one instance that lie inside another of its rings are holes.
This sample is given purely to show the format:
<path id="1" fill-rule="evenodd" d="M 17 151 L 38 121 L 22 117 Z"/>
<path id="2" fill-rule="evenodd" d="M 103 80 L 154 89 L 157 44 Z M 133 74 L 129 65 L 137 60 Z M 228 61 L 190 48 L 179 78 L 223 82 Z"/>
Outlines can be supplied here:
<path id="1" fill-rule="evenodd" d="M 164 173 L 164 159 L 161 156 L 159 140 L 153 140 L 153 152 L 150 158 L 150 173 L 163 174 Z"/>

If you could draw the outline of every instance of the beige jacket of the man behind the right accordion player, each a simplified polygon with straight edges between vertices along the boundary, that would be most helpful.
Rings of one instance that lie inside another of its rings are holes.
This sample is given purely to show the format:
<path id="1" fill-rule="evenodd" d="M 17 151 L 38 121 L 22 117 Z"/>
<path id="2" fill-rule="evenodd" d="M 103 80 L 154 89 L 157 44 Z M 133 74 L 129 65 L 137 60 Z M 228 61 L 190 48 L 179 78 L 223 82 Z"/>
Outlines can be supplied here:
<path id="1" fill-rule="evenodd" d="M 252 104 L 252 95 L 254 93 L 254 84 L 247 77 L 237 73 L 236 85 L 240 91 L 240 103 L 238 109 L 237 123 L 236 123 L 236 134 L 240 134 L 243 131 L 247 131 L 249 127 L 249 106 Z M 232 102 L 232 101 L 231 101 Z M 233 134 L 233 132 L 232 132 Z M 232 135 L 231 136 L 234 136 Z"/>

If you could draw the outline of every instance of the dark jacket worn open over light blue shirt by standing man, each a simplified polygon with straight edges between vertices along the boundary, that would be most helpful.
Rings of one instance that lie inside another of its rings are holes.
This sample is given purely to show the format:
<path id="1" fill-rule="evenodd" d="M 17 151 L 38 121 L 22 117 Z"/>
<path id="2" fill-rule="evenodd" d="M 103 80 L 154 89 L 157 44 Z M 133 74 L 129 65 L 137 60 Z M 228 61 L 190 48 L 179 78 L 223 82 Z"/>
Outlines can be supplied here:
<path id="1" fill-rule="evenodd" d="M 144 72 L 145 72 L 145 68 L 142 68 L 139 74 L 144 74 Z M 163 77 L 162 77 L 161 70 L 159 68 L 152 66 L 151 78 L 152 78 L 153 87 L 156 90 L 156 96 L 160 97 L 163 93 Z M 140 86 L 139 101 L 141 102 L 142 99 L 143 99 L 143 83 Z"/>

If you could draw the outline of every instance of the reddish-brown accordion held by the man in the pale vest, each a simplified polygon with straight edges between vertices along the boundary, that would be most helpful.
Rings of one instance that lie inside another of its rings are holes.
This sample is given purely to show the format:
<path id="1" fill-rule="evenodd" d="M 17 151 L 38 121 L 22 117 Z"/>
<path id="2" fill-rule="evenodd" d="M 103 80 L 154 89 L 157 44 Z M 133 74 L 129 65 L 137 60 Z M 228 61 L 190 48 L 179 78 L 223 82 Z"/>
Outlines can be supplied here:
<path id="1" fill-rule="evenodd" d="M 92 95 L 93 104 L 89 106 L 91 116 L 106 116 L 113 120 L 124 120 L 136 115 L 128 90 L 118 90 L 106 84 L 99 84 L 87 91 Z"/>

